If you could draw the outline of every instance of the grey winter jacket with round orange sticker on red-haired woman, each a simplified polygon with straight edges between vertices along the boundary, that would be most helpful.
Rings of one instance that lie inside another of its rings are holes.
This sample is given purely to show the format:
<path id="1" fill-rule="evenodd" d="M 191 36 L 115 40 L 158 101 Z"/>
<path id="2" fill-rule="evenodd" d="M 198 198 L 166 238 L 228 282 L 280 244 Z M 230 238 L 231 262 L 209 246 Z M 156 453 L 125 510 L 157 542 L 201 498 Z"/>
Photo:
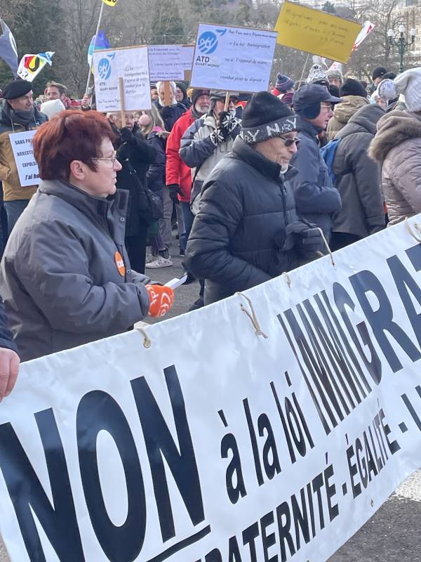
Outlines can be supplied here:
<path id="1" fill-rule="evenodd" d="M 13 228 L 0 293 L 22 360 L 126 332 L 147 314 L 147 278 L 124 247 L 128 192 L 108 199 L 42 181 Z"/>

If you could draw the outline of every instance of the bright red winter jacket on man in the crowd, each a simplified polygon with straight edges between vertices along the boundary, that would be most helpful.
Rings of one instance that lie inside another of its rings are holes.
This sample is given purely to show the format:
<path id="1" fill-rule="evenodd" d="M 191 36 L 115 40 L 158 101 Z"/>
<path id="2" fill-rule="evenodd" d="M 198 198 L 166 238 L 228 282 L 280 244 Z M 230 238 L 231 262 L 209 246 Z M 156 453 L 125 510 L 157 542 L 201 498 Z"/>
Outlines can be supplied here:
<path id="1" fill-rule="evenodd" d="M 192 169 L 182 161 L 180 150 L 181 137 L 196 119 L 192 117 L 192 108 L 185 112 L 174 124 L 166 145 L 166 185 L 177 183 L 182 190 L 178 199 L 185 203 L 190 202 L 192 191 Z"/>

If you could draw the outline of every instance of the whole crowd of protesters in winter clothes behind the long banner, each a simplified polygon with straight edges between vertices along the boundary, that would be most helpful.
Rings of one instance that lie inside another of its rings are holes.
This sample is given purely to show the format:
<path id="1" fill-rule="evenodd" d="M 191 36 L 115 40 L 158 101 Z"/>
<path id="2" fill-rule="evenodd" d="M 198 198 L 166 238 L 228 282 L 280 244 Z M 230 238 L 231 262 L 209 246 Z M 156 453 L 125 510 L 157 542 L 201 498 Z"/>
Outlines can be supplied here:
<path id="1" fill-rule="evenodd" d="M 315 64 L 253 96 L 158 82 L 152 109 L 104 115 L 57 82 L 36 100 L 7 84 L 0 398 L 19 360 L 168 312 L 173 289 L 145 272 L 171 252 L 200 281 L 193 310 L 420 212 L 420 92 L 421 68 L 368 86 Z M 22 187 L 9 135 L 32 129 L 41 183 Z"/>

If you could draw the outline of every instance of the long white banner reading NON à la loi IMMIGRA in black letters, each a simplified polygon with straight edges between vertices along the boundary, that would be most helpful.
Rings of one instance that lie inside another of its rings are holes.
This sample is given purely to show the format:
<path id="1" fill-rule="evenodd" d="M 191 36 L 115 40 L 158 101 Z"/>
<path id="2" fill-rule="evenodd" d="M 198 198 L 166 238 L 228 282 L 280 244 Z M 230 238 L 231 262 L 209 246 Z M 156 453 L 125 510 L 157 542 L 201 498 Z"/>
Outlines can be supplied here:
<path id="1" fill-rule="evenodd" d="M 326 561 L 421 464 L 421 244 L 402 223 L 333 255 L 150 346 L 22 365 L 0 404 L 11 561 Z"/>

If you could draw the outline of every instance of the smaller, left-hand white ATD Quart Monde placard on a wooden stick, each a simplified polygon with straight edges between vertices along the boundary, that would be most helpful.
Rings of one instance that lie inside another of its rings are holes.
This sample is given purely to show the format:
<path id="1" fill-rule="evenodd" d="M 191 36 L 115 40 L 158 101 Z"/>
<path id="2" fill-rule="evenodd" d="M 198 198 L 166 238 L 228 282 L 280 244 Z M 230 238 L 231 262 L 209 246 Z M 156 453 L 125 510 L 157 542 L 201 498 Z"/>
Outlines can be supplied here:
<path id="1" fill-rule="evenodd" d="M 102 112 L 121 110 L 119 78 L 124 82 L 124 110 L 150 110 L 147 47 L 105 49 L 93 53 L 96 108 Z"/>

